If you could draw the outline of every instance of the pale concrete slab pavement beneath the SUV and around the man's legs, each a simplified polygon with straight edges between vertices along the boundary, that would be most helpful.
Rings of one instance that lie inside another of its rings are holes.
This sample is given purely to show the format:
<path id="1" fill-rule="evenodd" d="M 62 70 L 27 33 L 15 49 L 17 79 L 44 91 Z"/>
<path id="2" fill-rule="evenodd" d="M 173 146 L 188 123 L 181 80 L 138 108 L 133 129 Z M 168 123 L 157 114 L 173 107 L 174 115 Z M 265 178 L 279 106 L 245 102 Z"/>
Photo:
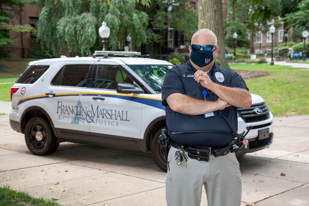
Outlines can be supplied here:
<path id="1" fill-rule="evenodd" d="M 9 110 L 0 101 L 0 113 Z M 273 124 L 273 145 L 239 158 L 241 205 L 309 205 L 309 115 L 276 117 Z M 0 133 L 0 186 L 63 206 L 166 205 L 166 173 L 148 152 L 61 143 L 55 153 L 36 156 L 8 115 L 0 116 Z"/>

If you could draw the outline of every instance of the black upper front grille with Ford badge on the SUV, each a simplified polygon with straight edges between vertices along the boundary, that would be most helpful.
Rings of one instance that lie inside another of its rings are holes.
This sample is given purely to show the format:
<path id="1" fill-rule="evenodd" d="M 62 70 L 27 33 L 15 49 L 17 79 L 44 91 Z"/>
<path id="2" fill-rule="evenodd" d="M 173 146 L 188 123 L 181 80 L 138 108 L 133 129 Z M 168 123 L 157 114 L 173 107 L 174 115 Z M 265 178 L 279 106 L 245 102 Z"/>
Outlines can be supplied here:
<path id="1" fill-rule="evenodd" d="M 256 113 L 256 110 L 258 110 L 258 108 L 260 108 L 261 114 Z M 237 112 L 246 123 L 259 122 L 267 120 L 270 117 L 269 110 L 265 102 L 259 104 L 252 104 L 249 108 L 237 108 Z"/>

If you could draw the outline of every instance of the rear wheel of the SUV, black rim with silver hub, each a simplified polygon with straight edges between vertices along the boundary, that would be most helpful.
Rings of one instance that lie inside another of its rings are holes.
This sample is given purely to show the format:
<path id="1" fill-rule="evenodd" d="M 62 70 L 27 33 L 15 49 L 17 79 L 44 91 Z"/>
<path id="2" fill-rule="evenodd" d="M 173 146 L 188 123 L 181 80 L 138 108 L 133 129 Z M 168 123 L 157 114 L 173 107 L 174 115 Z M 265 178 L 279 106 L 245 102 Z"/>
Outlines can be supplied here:
<path id="1" fill-rule="evenodd" d="M 41 117 L 28 121 L 25 128 L 25 141 L 30 152 L 45 155 L 55 152 L 59 143 L 49 124 Z"/>

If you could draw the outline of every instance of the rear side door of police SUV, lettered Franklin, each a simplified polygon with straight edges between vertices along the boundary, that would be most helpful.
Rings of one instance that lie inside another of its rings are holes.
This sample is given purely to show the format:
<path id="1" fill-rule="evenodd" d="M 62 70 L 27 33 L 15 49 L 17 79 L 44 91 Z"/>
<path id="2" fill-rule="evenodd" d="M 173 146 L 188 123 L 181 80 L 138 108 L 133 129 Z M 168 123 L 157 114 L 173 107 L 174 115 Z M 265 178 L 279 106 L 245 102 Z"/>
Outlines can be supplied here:
<path id="1" fill-rule="evenodd" d="M 46 111 L 61 141 L 90 143 L 87 95 L 92 68 L 89 61 L 66 63 L 44 91 L 49 95 Z"/>

